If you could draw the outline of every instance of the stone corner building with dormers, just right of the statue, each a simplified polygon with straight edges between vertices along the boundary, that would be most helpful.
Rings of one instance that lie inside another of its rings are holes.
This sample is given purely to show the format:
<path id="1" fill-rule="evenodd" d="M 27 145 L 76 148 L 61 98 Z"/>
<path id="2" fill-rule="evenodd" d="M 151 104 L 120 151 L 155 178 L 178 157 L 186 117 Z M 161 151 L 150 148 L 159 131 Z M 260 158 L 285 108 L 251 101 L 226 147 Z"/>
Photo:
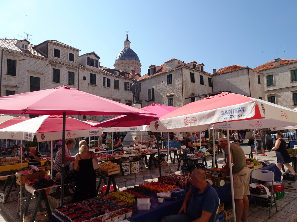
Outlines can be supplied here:
<path id="1" fill-rule="evenodd" d="M 203 70 L 203 63 L 185 63 L 170 59 L 160 66 L 151 65 L 148 73 L 138 78 L 141 84 L 140 103 L 181 107 L 212 92 L 212 74 Z"/>

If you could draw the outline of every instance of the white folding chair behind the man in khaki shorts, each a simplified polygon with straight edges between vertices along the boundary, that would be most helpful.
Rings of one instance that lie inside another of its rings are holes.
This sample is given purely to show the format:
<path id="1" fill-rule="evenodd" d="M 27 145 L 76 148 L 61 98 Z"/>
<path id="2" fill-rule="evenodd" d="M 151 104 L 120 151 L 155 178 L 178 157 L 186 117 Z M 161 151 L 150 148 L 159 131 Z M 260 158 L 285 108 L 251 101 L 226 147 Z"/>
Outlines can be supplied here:
<path id="1" fill-rule="evenodd" d="M 251 180 L 252 179 L 271 182 L 271 185 L 273 185 L 274 173 L 272 171 L 269 171 L 269 170 L 253 170 L 252 175 L 251 175 Z M 250 193 L 250 195 L 254 196 L 254 197 L 270 198 L 270 206 L 269 206 L 269 214 L 268 214 L 269 219 L 270 219 L 270 211 L 271 211 L 271 205 L 272 205 L 272 197 L 273 197 L 273 200 L 274 200 L 274 203 L 275 203 L 275 209 L 277 211 L 277 202 L 275 200 L 275 194 L 274 194 L 274 191 L 273 191 L 273 186 L 271 186 L 270 194 L 271 194 L 271 196 L 268 196 L 268 194 L 261 194 L 260 195 L 260 194 Z M 255 198 L 254 198 L 254 203 L 255 203 L 255 206 L 257 207 Z"/>

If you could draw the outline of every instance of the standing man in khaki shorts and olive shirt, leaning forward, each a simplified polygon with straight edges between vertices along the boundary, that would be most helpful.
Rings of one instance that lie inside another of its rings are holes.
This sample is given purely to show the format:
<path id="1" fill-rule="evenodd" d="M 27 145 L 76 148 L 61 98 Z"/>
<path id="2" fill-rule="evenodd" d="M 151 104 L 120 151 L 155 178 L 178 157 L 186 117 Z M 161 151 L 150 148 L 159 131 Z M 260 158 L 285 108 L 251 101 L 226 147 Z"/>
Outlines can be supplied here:
<path id="1" fill-rule="evenodd" d="M 250 172 L 247 167 L 243 150 L 237 145 L 230 143 L 230 156 L 228 155 L 228 141 L 226 138 L 219 139 L 219 146 L 225 150 L 228 157 L 227 163 L 222 172 L 229 173 L 229 163 L 233 163 L 233 188 L 234 188 L 234 199 L 235 199 L 235 213 L 236 221 L 247 222 L 247 212 L 249 210 L 249 179 Z"/>

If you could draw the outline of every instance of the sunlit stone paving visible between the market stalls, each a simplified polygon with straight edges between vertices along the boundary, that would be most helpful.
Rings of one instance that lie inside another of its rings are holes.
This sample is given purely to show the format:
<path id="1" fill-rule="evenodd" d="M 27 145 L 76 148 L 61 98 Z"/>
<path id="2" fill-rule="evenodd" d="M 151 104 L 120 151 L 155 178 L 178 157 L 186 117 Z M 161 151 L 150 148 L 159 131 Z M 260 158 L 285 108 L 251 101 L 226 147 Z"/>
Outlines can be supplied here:
<path id="1" fill-rule="evenodd" d="M 78 148 L 74 150 L 74 154 L 78 152 Z M 267 156 L 264 157 L 262 155 L 258 155 L 259 160 L 269 160 L 271 163 L 276 163 L 275 152 L 266 152 Z M 208 165 L 211 164 L 211 157 L 207 158 Z M 217 161 L 219 167 L 222 166 L 224 161 L 223 155 L 220 153 L 217 156 Z M 175 173 L 181 173 L 181 171 L 177 171 L 177 163 L 170 164 L 170 169 L 174 170 Z M 168 168 L 161 167 L 162 175 L 165 175 L 165 170 Z M 287 170 L 285 168 L 285 170 Z M 159 168 L 152 168 L 149 170 L 146 168 L 145 171 L 129 174 L 125 176 L 117 175 L 116 176 L 116 184 L 119 186 L 120 190 L 124 190 L 128 187 L 135 186 L 141 183 L 146 183 L 150 181 L 158 181 L 159 176 Z M 0 186 L 3 186 L 3 183 Z M 282 221 L 282 222 L 294 222 L 297 221 L 297 190 L 293 189 L 285 189 L 285 197 L 281 200 L 277 200 L 277 208 L 278 212 L 276 212 L 275 207 L 271 209 L 271 218 L 268 219 L 268 207 L 260 207 L 253 203 L 249 205 L 249 221 L 254 222 L 274 222 L 274 221 Z M 20 218 L 17 215 L 17 202 L 12 201 L 6 204 L 0 203 L 0 222 L 2 221 L 16 221 L 20 222 Z"/>

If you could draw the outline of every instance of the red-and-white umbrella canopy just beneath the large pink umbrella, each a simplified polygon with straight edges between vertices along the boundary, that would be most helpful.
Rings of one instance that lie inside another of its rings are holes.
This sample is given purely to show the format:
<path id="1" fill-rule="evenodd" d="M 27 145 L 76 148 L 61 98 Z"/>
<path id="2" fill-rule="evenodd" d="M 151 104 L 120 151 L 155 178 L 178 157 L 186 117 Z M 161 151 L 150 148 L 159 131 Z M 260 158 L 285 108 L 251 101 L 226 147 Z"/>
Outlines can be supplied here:
<path id="1" fill-rule="evenodd" d="M 28 118 L 20 123 L 0 129 L 0 138 L 11 138 L 33 141 L 34 136 L 38 142 L 62 139 L 63 117 L 43 115 Z M 85 136 L 101 136 L 102 129 L 94 127 L 84 121 L 66 117 L 65 138 Z"/>

